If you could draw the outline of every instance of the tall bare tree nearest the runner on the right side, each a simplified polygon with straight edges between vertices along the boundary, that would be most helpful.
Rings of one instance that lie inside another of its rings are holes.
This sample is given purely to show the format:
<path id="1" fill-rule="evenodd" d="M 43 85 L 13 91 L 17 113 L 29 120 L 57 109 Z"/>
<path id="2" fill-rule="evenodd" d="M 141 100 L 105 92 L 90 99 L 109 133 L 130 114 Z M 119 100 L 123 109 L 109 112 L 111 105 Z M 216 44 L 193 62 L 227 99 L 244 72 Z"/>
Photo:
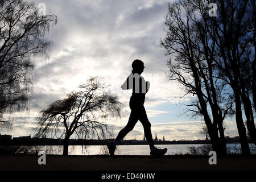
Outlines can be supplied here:
<path id="1" fill-rule="evenodd" d="M 208 7 L 201 1 L 179 1 L 170 4 L 168 10 L 167 36 L 160 45 L 167 56 L 171 55 L 167 61 L 170 80 L 183 85 L 186 94 L 197 96 L 186 105 L 190 107 L 188 111 L 203 116 L 213 150 L 225 155 L 223 121 L 232 113 L 233 102 L 227 97 L 227 84 L 214 65 L 218 57 L 214 51 L 216 43 L 210 40 L 204 22 L 204 18 L 209 18 L 205 16 Z"/>

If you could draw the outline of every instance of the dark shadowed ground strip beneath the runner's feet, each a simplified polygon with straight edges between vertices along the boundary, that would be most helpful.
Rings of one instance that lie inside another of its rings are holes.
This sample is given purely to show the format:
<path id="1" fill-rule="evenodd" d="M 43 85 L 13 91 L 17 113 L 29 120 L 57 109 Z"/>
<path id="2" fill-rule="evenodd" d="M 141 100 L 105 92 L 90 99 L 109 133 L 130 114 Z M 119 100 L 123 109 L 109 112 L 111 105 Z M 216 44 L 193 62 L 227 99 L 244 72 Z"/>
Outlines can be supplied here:
<path id="1" fill-rule="evenodd" d="M 46 165 L 39 165 L 37 155 L 0 155 L 3 170 L 92 170 L 92 171 L 170 171 L 170 170 L 256 170 L 256 156 L 230 155 L 217 157 L 217 165 L 209 165 L 210 156 L 167 155 L 158 159 L 150 156 L 109 155 L 62 156 L 46 155 Z"/>

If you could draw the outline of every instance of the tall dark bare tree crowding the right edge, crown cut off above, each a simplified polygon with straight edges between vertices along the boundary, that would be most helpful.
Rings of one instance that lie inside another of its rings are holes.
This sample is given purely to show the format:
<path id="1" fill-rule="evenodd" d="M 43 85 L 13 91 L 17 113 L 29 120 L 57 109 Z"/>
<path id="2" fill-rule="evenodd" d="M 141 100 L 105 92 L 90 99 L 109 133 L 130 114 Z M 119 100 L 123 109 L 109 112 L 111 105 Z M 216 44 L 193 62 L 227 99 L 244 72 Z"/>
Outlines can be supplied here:
<path id="1" fill-rule="evenodd" d="M 242 154 L 250 154 L 246 128 L 242 117 L 242 104 L 246 126 L 251 139 L 256 140 L 251 95 L 255 95 L 255 2 L 216 1 L 218 16 L 208 22 L 209 35 L 216 42 L 214 63 L 222 79 L 233 91 L 236 106 L 236 122 L 240 135 Z M 254 96 L 253 96 L 254 97 Z"/>

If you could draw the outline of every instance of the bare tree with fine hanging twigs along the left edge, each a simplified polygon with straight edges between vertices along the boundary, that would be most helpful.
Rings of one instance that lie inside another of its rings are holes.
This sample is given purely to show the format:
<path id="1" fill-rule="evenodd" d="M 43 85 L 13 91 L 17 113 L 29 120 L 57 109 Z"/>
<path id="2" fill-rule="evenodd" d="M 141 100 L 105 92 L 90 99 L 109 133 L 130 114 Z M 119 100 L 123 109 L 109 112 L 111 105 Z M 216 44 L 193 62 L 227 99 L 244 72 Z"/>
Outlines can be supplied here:
<path id="1" fill-rule="evenodd" d="M 0 120 L 3 113 L 27 109 L 32 90 L 31 56 L 47 55 L 50 41 L 43 36 L 57 23 L 42 15 L 34 2 L 0 1 Z"/>

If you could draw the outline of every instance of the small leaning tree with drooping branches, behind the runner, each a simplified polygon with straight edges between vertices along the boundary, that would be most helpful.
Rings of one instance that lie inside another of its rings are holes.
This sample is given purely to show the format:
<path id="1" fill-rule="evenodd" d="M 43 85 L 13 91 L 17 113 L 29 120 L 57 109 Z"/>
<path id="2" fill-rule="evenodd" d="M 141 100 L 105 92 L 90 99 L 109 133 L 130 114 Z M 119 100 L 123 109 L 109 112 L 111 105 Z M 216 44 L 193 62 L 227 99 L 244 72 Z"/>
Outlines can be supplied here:
<path id="1" fill-rule="evenodd" d="M 79 88 L 40 111 L 36 119 L 34 137 L 64 138 L 63 155 L 68 155 L 71 135 L 77 139 L 105 138 L 110 134 L 106 121 L 121 113 L 121 102 L 106 92 L 100 78 L 90 77 Z"/>

